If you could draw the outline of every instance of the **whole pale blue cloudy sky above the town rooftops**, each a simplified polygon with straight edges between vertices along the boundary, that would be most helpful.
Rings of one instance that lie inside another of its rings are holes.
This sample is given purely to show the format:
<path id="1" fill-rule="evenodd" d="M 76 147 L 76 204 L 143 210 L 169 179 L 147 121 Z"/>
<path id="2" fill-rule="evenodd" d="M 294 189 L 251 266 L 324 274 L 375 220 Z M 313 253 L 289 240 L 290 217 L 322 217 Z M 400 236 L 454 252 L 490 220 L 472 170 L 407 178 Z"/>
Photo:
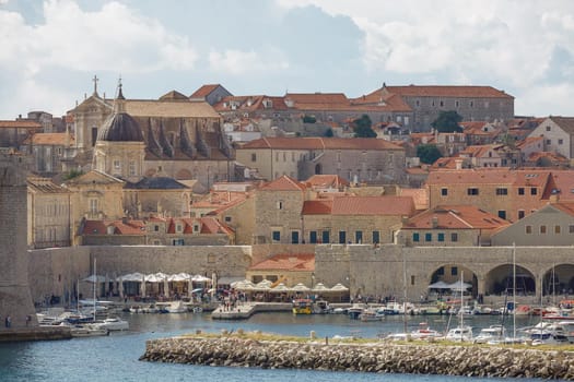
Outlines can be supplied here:
<path id="1" fill-rule="evenodd" d="M 489 85 L 574 116 L 571 0 L 0 0 L 0 119 L 94 91 L 156 99 Z"/>

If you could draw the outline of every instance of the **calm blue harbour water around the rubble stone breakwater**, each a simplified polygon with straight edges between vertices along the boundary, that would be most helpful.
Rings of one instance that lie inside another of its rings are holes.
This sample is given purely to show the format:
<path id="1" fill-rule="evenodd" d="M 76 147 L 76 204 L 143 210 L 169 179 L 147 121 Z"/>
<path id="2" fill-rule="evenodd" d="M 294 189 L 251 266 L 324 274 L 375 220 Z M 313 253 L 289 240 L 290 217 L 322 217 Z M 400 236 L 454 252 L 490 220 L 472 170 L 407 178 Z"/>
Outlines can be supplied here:
<path id="1" fill-rule="evenodd" d="M 256 368 L 200 367 L 142 362 L 145 341 L 168 337 L 202 330 L 245 331 L 309 335 L 318 337 L 354 335 L 376 337 L 384 333 L 400 332 L 403 321 L 388 318 L 384 322 L 360 322 L 345 315 L 294 317 L 290 313 L 261 313 L 246 321 L 212 321 L 209 314 L 126 314 L 130 331 L 113 333 L 107 337 L 73 338 L 58 342 L 0 344 L 0 381 L 502 381 L 443 375 L 407 375 L 324 372 L 308 370 L 261 370 Z M 443 330 L 447 318 L 411 318 L 409 326 L 425 321 L 432 329 Z M 500 323 L 499 318 L 480 317 L 466 320 L 475 327 Z M 453 323 L 454 324 L 454 323 Z M 519 324 L 528 324 L 520 321 Z M 425 325 L 425 324 L 424 324 Z M 478 332 L 478 331 L 477 331 Z M 520 380 L 527 381 L 527 380 Z M 535 381 L 535 380 L 529 380 Z"/>

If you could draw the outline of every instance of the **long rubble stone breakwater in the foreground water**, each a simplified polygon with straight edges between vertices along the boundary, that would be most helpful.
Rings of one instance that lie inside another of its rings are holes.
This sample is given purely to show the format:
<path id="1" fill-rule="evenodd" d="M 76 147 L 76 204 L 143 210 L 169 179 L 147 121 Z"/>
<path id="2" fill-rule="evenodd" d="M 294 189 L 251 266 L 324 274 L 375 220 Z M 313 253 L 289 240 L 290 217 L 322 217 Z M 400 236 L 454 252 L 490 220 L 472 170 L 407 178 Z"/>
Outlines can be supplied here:
<path id="1" fill-rule="evenodd" d="M 482 346 L 344 344 L 175 337 L 140 360 L 204 366 L 574 380 L 574 353 Z"/>

